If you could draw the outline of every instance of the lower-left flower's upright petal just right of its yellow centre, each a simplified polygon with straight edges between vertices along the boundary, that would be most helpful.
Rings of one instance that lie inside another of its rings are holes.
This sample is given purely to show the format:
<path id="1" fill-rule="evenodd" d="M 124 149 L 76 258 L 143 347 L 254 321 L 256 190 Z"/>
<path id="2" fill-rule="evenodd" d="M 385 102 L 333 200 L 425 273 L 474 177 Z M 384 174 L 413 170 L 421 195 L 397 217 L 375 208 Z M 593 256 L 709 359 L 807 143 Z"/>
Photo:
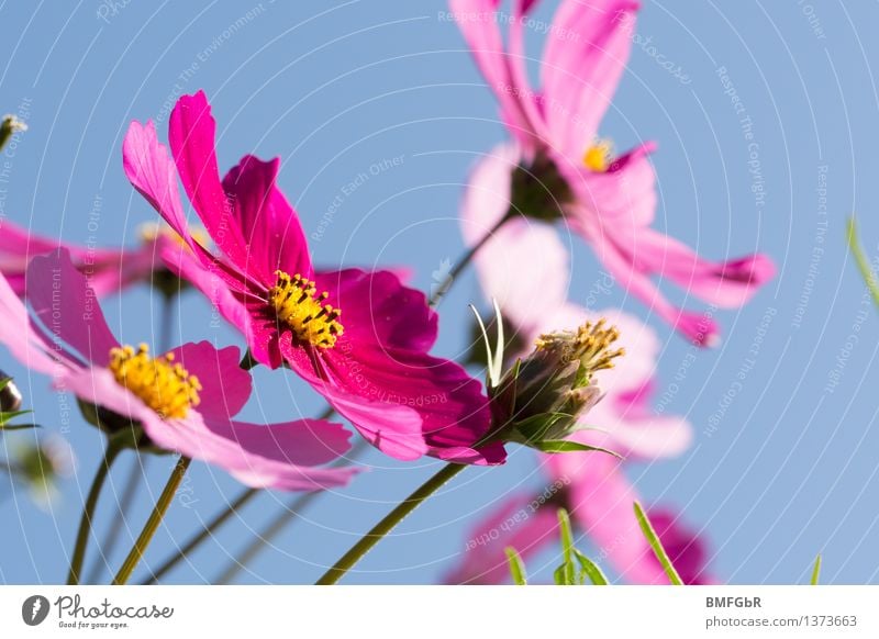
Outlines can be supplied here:
<path id="1" fill-rule="evenodd" d="M 210 341 L 185 344 L 170 351 L 201 383 L 198 411 L 205 419 L 229 419 L 237 415 L 251 396 L 251 373 L 243 370 L 235 346 L 218 350 Z"/>

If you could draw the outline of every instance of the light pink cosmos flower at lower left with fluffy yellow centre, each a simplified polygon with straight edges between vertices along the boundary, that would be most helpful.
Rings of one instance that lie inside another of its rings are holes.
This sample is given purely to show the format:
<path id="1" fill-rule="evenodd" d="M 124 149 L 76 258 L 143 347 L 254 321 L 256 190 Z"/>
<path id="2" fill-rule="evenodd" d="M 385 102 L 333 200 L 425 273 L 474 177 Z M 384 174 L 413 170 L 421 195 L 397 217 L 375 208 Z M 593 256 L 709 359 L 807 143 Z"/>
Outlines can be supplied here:
<path id="1" fill-rule="evenodd" d="M 56 388 L 98 406 L 102 426 L 137 422 L 152 445 L 219 466 L 253 487 L 341 486 L 356 472 L 318 468 L 349 448 L 338 424 L 233 419 L 252 385 L 236 347 L 190 343 L 153 357 L 145 345 L 121 346 L 65 249 L 33 258 L 26 279 L 33 316 L 0 278 L 0 343 Z"/>

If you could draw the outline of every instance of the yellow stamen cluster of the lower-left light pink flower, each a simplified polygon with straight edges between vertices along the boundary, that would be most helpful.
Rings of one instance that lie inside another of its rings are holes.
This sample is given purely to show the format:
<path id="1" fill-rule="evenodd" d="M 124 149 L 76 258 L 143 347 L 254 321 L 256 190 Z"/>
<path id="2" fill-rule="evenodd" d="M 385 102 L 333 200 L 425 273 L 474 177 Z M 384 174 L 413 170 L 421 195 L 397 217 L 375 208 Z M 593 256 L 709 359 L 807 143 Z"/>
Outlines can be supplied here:
<path id="1" fill-rule="evenodd" d="M 137 395 L 163 419 L 182 419 L 199 403 L 201 383 L 174 354 L 149 357 L 149 347 L 141 344 L 110 350 L 110 371 L 116 382 Z"/>

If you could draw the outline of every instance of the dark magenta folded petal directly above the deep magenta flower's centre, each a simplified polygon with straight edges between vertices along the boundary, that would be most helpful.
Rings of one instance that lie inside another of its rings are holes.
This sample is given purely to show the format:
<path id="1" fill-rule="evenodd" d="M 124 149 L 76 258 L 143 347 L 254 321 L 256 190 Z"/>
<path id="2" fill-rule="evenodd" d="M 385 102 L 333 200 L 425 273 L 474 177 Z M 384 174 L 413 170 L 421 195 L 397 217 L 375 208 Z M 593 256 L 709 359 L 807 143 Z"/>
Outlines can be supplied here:
<path id="1" fill-rule="evenodd" d="M 312 273 L 302 225 L 276 184 L 279 165 L 277 158 L 264 162 L 248 155 L 223 179 L 249 249 L 249 268 L 266 287 L 275 284 L 277 269 L 305 278 Z"/>

